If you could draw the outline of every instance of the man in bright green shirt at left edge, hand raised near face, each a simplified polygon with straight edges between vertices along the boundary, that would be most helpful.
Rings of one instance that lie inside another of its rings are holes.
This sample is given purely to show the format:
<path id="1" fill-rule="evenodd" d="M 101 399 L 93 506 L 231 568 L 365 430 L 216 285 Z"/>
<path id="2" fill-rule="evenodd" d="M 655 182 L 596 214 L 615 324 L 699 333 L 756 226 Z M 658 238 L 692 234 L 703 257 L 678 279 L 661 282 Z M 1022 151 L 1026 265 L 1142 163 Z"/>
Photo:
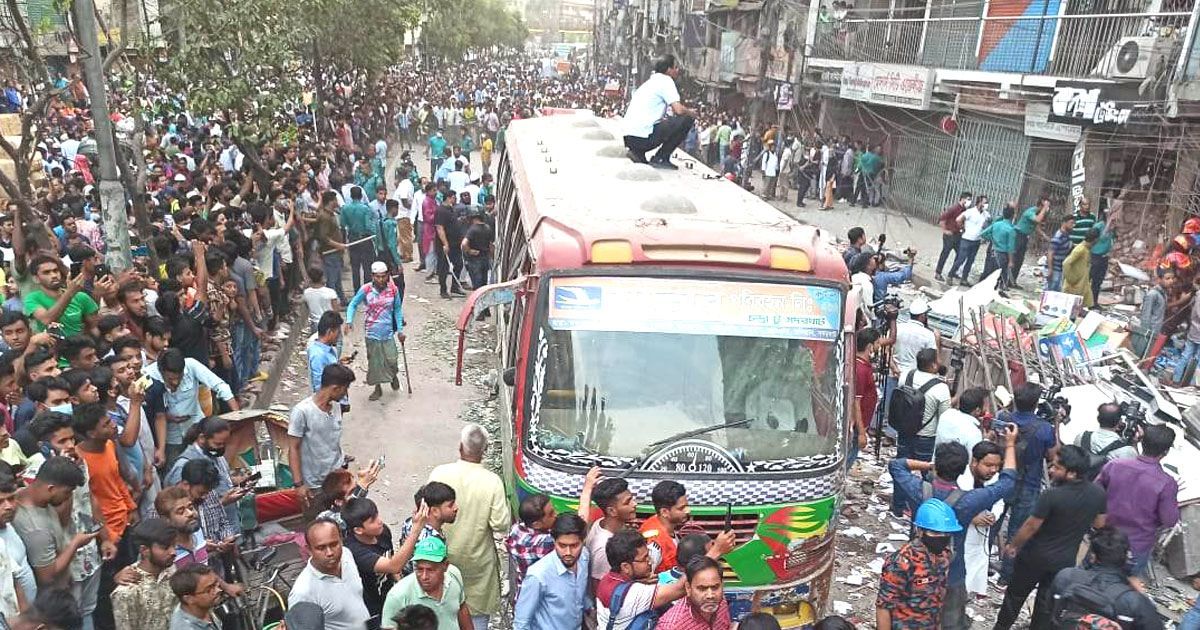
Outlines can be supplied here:
<path id="1" fill-rule="evenodd" d="M 96 328 L 96 313 L 100 305 L 91 295 L 82 293 L 84 283 L 91 276 L 90 268 L 84 268 L 78 276 L 64 281 L 62 262 L 38 256 L 30 265 L 38 289 L 25 295 L 25 314 L 34 320 L 34 330 L 42 332 L 50 324 L 58 323 L 64 337 L 89 334 Z"/>

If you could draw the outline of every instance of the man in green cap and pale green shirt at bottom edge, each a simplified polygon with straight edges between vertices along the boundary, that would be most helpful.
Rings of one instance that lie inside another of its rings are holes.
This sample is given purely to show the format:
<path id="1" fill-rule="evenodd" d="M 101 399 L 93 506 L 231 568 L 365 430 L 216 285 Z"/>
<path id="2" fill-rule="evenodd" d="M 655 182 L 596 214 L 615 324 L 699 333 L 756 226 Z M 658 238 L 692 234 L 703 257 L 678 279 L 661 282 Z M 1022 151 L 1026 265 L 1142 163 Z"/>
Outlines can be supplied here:
<path id="1" fill-rule="evenodd" d="M 472 628 L 470 611 L 463 594 L 462 574 L 446 562 L 446 544 L 437 536 L 421 539 L 413 550 L 416 570 L 388 592 L 380 628 L 396 628 L 396 617 L 408 606 L 420 604 L 438 617 L 438 628 Z"/>

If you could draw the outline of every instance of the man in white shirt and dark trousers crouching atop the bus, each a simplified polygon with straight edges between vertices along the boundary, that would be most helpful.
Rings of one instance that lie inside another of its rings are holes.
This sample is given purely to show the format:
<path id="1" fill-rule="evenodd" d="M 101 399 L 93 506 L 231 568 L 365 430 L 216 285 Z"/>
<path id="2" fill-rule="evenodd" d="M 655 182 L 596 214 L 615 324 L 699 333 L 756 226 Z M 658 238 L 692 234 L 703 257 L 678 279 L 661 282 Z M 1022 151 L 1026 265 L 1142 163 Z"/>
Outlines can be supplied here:
<path id="1" fill-rule="evenodd" d="M 696 124 L 696 110 L 679 101 L 674 79 L 679 64 L 666 54 L 654 62 L 654 74 L 634 90 L 625 110 L 625 148 L 634 162 L 647 163 L 646 154 L 658 149 L 649 164 L 655 168 L 678 168 L 671 154 L 683 144 L 688 131 Z M 671 114 L 667 115 L 670 109 Z"/>

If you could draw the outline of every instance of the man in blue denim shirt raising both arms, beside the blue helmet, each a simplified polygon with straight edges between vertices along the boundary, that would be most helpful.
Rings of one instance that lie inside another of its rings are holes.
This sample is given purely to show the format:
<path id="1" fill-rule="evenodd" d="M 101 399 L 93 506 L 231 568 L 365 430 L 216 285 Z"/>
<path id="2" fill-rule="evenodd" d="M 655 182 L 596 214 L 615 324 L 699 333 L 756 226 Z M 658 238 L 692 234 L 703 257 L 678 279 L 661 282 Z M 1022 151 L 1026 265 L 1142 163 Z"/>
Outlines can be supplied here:
<path id="1" fill-rule="evenodd" d="M 966 616 L 966 563 L 964 562 L 964 544 L 966 527 L 972 524 L 980 514 L 990 514 L 991 506 L 1000 499 L 1012 494 L 1016 486 L 1016 427 L 1004 428 L 1004 469 L 1000 480 L 990 486 L 962 491 L 959 478 L 967 469 L 966 448 L 955 440 L 943 442 L 934 452 L 934 463 L 920 460 L 895 458 L 888 464 L 896 497 L 907 508 L 919 510 L 918 504 L 925 499 L 940 499 L 952 510 L 960 526 L 954 532 L 954 558 L 950 562 L 946 578 L 946 601 L 942 606 L 943 630 L 968 630 L 971 619 Z M 922 481 L 911 470 L 934 470 L 932 484 Z M 919 512 L 918 512 L 919 514 Z M 919 523 L 918 523 L 918 527 Z M 880 628 L 888 628 L 881 625 Z"/>

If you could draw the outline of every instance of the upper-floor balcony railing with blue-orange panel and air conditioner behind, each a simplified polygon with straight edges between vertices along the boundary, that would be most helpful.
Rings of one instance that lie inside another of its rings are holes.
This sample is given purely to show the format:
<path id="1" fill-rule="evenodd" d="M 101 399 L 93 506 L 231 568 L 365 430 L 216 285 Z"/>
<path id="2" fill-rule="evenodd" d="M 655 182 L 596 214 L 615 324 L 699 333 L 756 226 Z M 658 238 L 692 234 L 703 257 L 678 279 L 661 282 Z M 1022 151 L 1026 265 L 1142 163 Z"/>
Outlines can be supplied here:
<path id="1" fill-rule="evenodd" d="M 818 59 L 1078 78 L 1146 78 L 1172 71 L 1189 17 L 1184 12 L 882 16 L 818 22 L 811 43 L 812 56 Z"/>

